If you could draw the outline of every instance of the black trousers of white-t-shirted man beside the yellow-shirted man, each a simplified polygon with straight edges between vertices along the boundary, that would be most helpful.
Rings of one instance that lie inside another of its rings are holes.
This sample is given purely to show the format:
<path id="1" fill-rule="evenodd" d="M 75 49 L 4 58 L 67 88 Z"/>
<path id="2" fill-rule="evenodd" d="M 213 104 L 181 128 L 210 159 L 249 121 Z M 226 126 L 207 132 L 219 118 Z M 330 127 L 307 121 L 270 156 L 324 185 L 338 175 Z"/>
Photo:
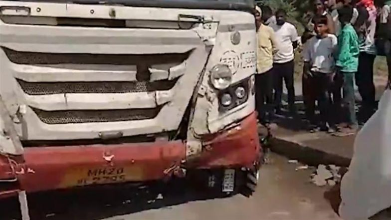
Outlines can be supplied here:
<path id="1" fill-rule="evenodd" d="M 282 82 L 285 81 L 286 89 L 288 90 L 289 110 L 295 111 L 295 87 L 293 81 L 293 73 L 295 70 L 294 61 L 286 63 L 274 63 L 273 81 L 274 81 L 274 105 L 277 111 L 281 109 L 282 99 Z"/>

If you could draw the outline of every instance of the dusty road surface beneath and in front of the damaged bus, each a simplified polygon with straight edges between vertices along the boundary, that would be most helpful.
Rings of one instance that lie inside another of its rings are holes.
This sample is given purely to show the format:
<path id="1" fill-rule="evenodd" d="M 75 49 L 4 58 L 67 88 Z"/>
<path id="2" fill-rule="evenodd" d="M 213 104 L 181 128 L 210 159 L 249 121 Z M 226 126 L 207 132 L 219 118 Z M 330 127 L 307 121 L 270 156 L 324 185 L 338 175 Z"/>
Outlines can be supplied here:
<path id="1" fill-rule="evenodd" d="M 134 205 L 126 189 L 46 193 L 30 196 L 32 220 L 340 220 L 324 199 L 326 188 L 309 182 L 311 170 L 276 154 L 260 171 L 251 198 L 210 199 L 202 193 L 178 193 L 150 204 Z M 18 219 L 17 203 L 0 203 L 1 220 Z"/>

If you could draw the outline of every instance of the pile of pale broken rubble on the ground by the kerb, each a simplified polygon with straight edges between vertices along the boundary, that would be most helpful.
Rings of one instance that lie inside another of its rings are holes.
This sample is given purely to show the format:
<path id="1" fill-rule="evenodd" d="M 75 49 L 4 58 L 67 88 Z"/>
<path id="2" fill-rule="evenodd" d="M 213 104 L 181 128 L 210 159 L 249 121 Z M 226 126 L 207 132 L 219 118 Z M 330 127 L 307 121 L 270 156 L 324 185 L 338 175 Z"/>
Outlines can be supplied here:
<path id="1" fill-rule="evenodd" d="M 319 187 L 326 185 L 335 186 L 341 181 L 342 173 L 345 170 L 346 168 L 341 168 L 336 165 L 321 164 L 311 175 L 311 181 Z"/>

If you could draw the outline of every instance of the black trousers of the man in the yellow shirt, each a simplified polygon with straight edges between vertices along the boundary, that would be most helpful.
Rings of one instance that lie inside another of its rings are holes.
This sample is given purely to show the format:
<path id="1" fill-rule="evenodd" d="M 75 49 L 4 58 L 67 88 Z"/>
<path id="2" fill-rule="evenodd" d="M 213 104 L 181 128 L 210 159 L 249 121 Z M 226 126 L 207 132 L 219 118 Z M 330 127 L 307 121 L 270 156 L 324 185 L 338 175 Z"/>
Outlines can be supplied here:
<path id="1" fill-rule="evenodd" d="M 271 123 L 274 118 L 273 108 L 273 69 L 255 74 L 255 105 L 261 124 Z"/>

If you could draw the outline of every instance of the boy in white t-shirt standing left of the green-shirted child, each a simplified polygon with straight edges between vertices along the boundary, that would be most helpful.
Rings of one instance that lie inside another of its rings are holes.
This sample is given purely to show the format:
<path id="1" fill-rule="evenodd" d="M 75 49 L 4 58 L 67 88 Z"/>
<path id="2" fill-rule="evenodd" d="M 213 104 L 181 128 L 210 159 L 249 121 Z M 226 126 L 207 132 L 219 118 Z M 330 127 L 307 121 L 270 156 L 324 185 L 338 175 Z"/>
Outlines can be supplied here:
<path id="1" fill-rule="evenodd" d="M 312 86 L 316 88 L 313 90 L 313 95 L 318 100 L 321 114 L 319 127 L 311 126 L 311 132 L 315 132 L 318 128 L 322 131 L 335 131 L 332 112 L 330 112 L 329 89 L 335 73 L 334 55 L 338 42 L 337 37 L 329 33 L 329 20 L 326 15 L 314 18 L 316 36 L 306 43 L 303 50 L 303 77 L 311 79 Z M 312 112 L 307 115 L 312 125 L 318 124 L 314 119 L 314 111 L 314 108 L 306 109 L 306 112 Z"/>

